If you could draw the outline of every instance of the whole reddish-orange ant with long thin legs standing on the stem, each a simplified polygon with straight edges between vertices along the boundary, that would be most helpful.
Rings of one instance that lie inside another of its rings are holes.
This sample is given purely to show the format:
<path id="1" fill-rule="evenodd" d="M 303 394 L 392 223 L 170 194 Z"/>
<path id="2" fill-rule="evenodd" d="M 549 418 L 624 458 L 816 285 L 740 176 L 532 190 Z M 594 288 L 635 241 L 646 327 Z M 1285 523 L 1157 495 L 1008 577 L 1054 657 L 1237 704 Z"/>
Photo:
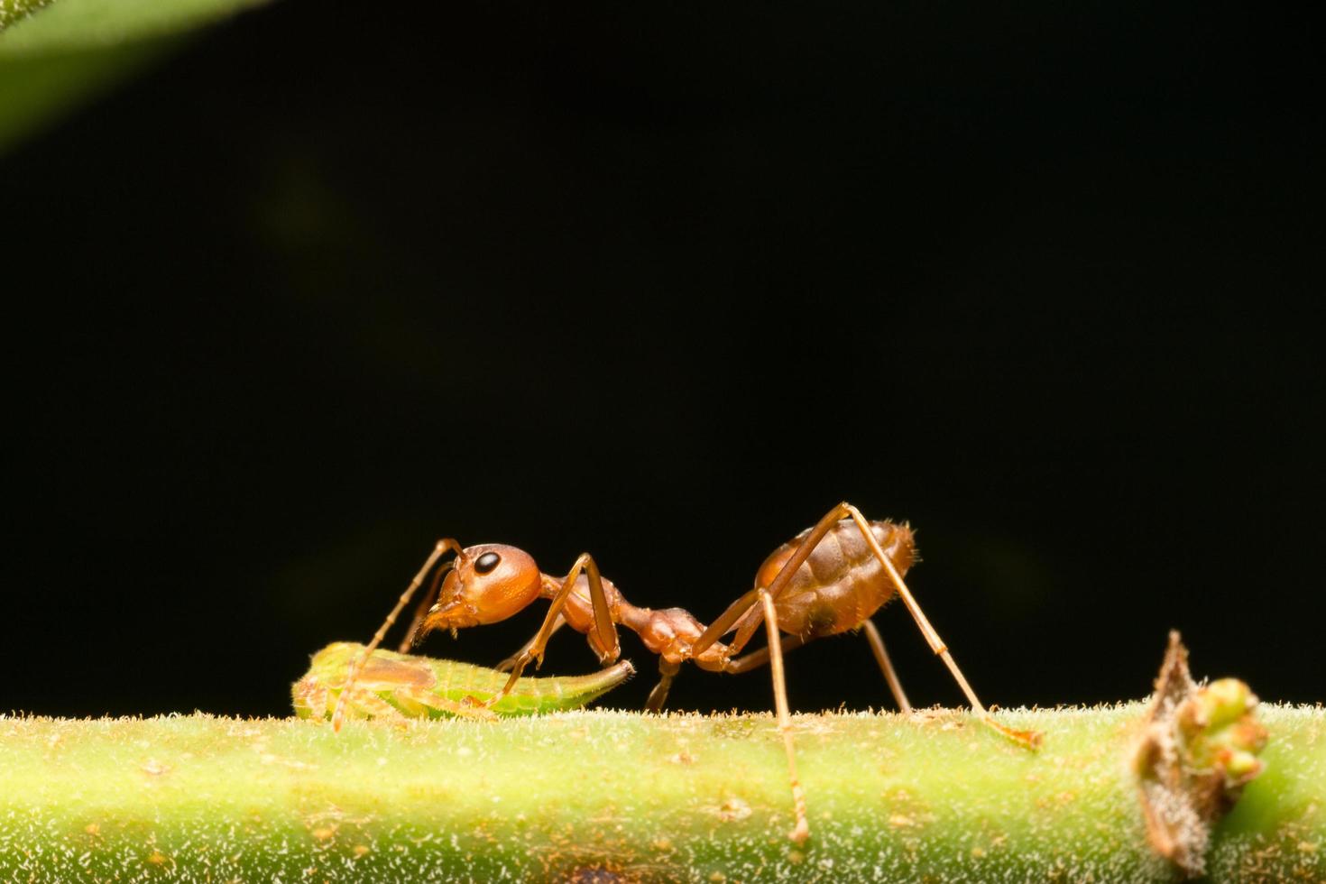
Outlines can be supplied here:
<path id="1" fill-rule="evenodd" d="M 436 569 L 439 559 L 447 551 L 453 551 L 455 559 L 450 567 Z M 363 661 L 386 636 L 387 630 L 430 573 L 432 582 L 410 624 L 402 651 L 434 630 L 446 628 L 455 632 L 465 627 L 497 623 L 524 610 L 536 599 L 552 600 L 544 624 L 534 637 L 504 661 L 503 667 L 511 669 L 511 677 L 501 693 L 488 701 L 489 706 L 514 687 L 530 660 L 536 668 L 542 665 L 549 636 L 564 624 L 570 624 L 573 630 L 587 636 L 589 645 L 602 665 L 609 665 L 621 656 L 618 624 L 634 631 L 650 652 L 659 655 L 659 672 L 663 677 L 650 693 L 646 704 L 650 712 L 663 708 L 668 687 L 687 660 L 711 672 L 748 672 L 768 663 L 773 676 L 778 730 L 782 733 L 788 754 L 796 807 L 797 822 L 790 838 L 802 842 L 810 834 L 810 828 L 806 823 L 806 802 L 797 777 L 792 745 L 792 717 L 788 712 L 782 652 L 798 648 L 812 639 L 862 628 L 899 708 L 904 713 L 911 712 L 911 704 L 907 702 L 907 696 L 888 660 L 884 643 L 870 622 L 871 615 L 895 594 L 907 606 L 931 649 L 948 665 L 981 720 L 1002 736 L 1028 747 L 1040 744 L 1041 734 L 1036 732 L 1012 730 L 993 721 L 981 701 L 976 698 L 976 693 L 948 652 L 948 645 L 940 640 L 935 627 L 926 619 L 916 599 L 903 583 L 902 575 L 915 561 L 916 547 L 911 527 L 890 521 L 867 521 L 855 506 L 842 502 L 829 510 L 814 527 L 797 534 L 774 550 L 756 573 L 754 588 L 733 602 L 705 628 L 682 608 L 651 610 L 629 603 L 611 580 L 599 575 L 598 565 L 589 553 L 582 553 L 575 559 L 566 577 L 556 578 L 542 574 L 534 559 L 514 546 L 483 543 L 461 547 L 448 538 L 438 542 L 386 622 L 373 636 L 373 641 L 351 663 L 346 676 L 346 691 L 341 697 L 343 701 L 354 687 Z M 761 623 L 768 632 L 768 648 L 737 656 Z M 732 631 L 736 631 L 736 635 L 731 643 L 719 641 Z M 780 631 L 788 634 L 786 640 L 782 640 Z M 337 702 L 333 714 L 338 730 L 343 712 L 342 701 Z"/>

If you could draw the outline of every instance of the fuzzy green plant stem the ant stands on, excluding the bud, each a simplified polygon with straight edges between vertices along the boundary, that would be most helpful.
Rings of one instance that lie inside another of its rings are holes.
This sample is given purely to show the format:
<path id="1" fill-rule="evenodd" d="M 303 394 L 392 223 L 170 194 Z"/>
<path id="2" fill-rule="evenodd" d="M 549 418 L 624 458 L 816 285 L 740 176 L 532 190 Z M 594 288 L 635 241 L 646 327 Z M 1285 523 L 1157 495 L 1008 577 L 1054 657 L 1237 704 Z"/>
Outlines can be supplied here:
<path id="1" fill-rule="evenodd" d="M 810 840 L 768 716 L 386 724 L 0 718 L 0 877 L 1172 880 L 1128 765 L 1142 704 L 796 718 Z M 1261 706 L 1265 773 L 1211 880 L 1326 875 L 1326 716 Z"/>

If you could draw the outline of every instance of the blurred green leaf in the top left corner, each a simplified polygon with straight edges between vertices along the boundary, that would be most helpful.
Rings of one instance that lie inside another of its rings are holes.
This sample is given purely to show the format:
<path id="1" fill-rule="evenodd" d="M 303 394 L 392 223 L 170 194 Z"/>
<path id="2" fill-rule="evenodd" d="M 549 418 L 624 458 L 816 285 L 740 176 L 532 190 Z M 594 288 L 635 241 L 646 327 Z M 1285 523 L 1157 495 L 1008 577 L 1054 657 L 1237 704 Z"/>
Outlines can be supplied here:
<path id="1" fill-rule="evenodd" d="M 0 154 L 183 34 L 264 1 L 0 0 Z"/>

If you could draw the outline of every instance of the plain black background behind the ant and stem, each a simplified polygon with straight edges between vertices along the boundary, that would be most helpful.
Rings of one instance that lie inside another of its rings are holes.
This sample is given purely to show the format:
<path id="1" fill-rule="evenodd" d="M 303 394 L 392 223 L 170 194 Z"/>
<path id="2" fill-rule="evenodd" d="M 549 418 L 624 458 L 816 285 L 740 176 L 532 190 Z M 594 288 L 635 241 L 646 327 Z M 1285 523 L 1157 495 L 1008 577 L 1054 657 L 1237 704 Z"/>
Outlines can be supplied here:
<path id="1" fill-rule="evenodd" d="M 590 550 L 708 620 L 841 498 L 918 529 L 987 701 L 1142 696 L 1171 627 L 1322 698 L 1313 23 L 414 16 L 286 0 L 0 160 L 0 708 L 286 714 L 442 535 Z M 426 649 L 495 663 L 537 608 Z M 568 631 L 545 673 L 593 668 Z M 857 637 L 789 681 L 887 705 Z M 769 684 L 688 671 L 672 705 Z"/>

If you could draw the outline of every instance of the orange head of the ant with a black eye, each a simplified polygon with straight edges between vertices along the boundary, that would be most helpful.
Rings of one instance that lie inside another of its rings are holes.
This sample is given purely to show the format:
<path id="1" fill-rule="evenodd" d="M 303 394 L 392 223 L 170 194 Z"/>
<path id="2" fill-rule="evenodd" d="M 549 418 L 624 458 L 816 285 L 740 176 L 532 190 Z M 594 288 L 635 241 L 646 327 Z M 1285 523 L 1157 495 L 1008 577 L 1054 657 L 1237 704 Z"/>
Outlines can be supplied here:
<path id="1" fill-rule="evenodd" d="M 419 626 L 418 641 L 434 630 L 497 623 L 538 598 L 542 575 L 529 553 L 503 543 L 467 546 Z"/>

